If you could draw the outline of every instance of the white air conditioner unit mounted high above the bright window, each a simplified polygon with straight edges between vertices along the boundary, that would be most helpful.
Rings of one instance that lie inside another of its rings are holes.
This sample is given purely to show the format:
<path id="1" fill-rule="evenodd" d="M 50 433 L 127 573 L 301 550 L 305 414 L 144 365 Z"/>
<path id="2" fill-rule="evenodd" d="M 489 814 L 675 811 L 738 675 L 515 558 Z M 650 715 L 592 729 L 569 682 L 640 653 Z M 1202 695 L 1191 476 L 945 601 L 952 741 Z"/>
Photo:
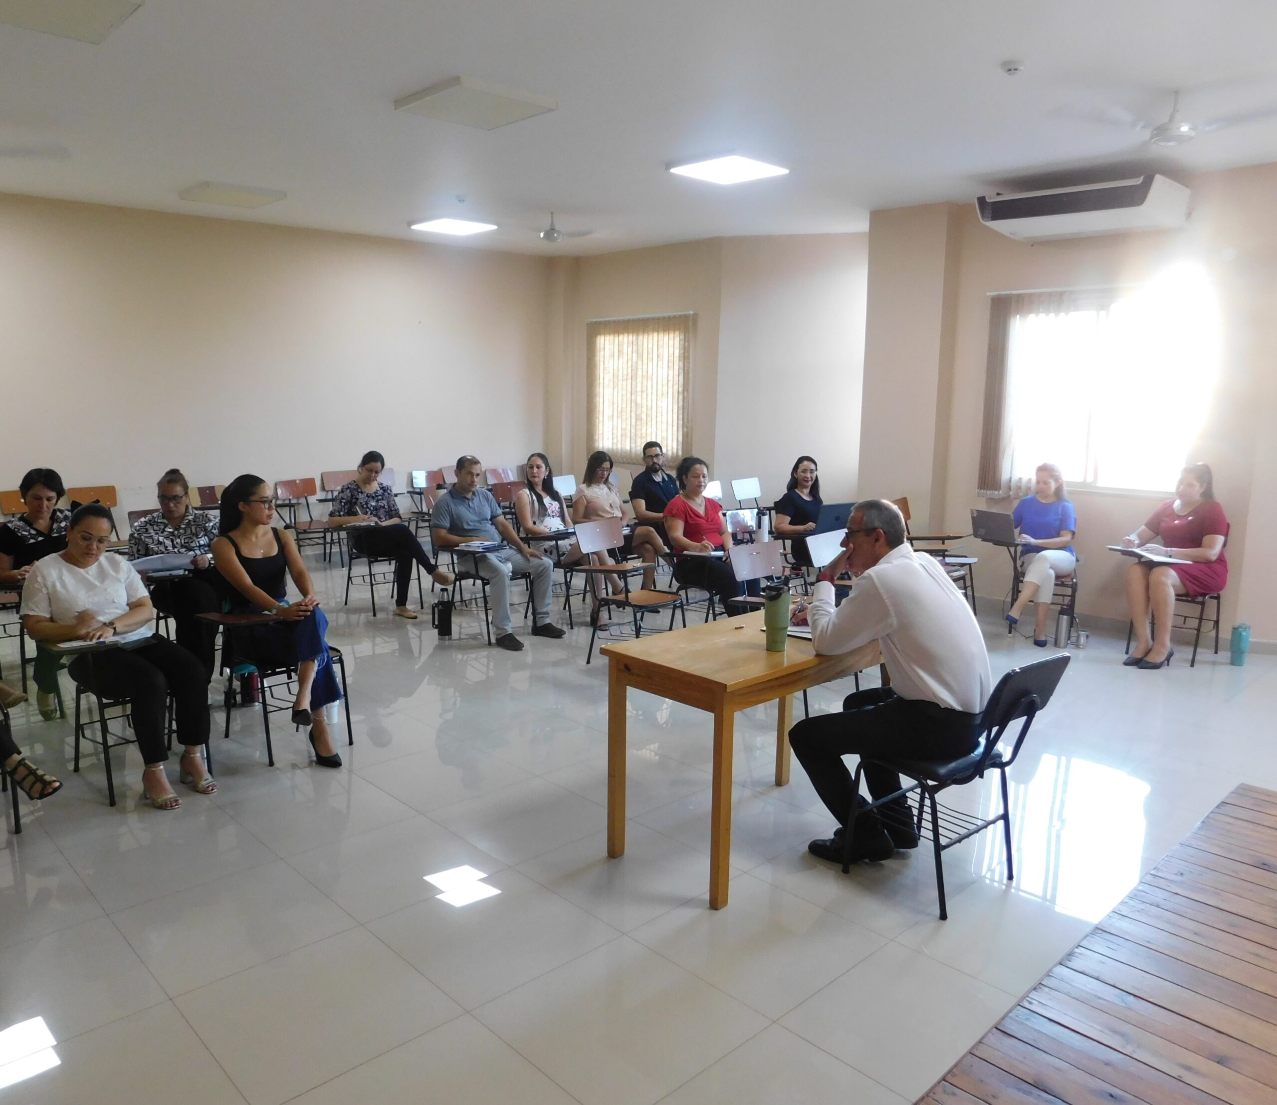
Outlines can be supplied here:
<path id="1" fill-rule="evenodd" d="M 979 221 L 1020 241 L 1176 230 L 1188 222 L 1193 193 L 1167 176 L 1151 172 L 1131 180 L 981 195 Z"/>

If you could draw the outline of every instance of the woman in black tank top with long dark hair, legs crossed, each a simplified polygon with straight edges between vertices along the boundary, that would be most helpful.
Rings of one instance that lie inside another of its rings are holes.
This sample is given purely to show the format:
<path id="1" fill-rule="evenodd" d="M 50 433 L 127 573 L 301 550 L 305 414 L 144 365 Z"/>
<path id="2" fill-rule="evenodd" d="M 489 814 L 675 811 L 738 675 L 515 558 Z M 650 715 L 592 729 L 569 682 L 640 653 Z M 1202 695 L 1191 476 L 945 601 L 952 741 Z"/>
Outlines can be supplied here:
<path id="1" fill-rule="evenodd" d="M 322 768 L 340 768 L 332 746 L 326 708 L 341 700 L 324 635 L 328 618 L 319 609 L 310 572 L 286 529 L 276 529 L 271 484 L 257 475 L 236 476 L 226 485 L 213 542 L 213 563 L 222 576 L 222 591 L 232 613 L 268 613 L 277 622 L 240 629 L 230 643 L 236 658 L 257 668 L 296 668 L 298 692 L 292 723 L 310 729 L 310 747 Z M 289 603 L 291 576 L 301 599 Z"/>

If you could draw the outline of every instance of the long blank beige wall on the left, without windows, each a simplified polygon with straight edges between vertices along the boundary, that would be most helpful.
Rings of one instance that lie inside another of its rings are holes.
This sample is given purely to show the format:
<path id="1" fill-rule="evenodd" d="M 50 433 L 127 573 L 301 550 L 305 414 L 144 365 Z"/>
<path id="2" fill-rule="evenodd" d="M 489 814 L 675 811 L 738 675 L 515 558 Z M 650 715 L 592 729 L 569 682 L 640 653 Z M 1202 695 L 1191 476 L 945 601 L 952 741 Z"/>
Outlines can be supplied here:
<path id="1" fill-rule="evenodd" d="M 0 197 L 0 485 L 400 473 L 541 445 L 549 264 Z M 123 519 L 121 519 L 123 521 Z"/>

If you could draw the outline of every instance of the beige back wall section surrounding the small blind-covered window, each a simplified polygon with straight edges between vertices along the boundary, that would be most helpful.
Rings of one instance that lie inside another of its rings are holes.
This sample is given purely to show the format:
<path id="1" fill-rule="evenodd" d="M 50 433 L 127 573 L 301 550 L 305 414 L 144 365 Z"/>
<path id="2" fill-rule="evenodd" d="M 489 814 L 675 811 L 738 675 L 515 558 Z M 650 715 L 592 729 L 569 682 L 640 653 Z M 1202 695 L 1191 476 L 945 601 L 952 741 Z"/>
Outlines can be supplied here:
<path id="1" fill-rule="evenodd" d="M 821 464 L 825 497 L 856 489 L 866 236 L 730 238 L 557 262 L 566 323 L 550 356 L 547 432 L 580 476 L 586 453 L 585 323 L 695 312 L 692 448 L 724 480 L 775 498 L 794 457 Z M 558 333 L 552 321 L 552 331 Z M 554 438 L 559 427 L 562 436 Z"/>

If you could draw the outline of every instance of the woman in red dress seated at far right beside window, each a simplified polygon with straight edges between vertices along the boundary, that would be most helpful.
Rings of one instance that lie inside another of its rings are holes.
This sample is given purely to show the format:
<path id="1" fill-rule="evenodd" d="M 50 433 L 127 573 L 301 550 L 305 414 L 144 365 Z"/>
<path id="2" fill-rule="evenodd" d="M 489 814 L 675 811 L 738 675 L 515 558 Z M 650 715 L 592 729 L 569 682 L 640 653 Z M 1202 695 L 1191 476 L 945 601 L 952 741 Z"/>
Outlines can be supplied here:
<path id="1" fill-rule="evenodd" d="M 1137 561 L 1126 571 L 1126 603 L 1135 626 L 1135 644 L 1122 660 L 1128 667 L 1153 671 L 1171 662 L 1171 621 L 1175 595 L 1211 595 L 1228 581 L 1223 545 L 1228 520 L 1214 498 L 1211 466 L 1190 464 L 1180 473 L 1175 498 L 1163 502 L 1137 533 L 1122 538 L 1128 548 L 1147 545 L 1154 537 L 1162 545 L 1151 552 L 1191 561 L 1186 565 L 1147 565 Z M 1157 631 L 1149 637 L 1148 612 Z"/>

